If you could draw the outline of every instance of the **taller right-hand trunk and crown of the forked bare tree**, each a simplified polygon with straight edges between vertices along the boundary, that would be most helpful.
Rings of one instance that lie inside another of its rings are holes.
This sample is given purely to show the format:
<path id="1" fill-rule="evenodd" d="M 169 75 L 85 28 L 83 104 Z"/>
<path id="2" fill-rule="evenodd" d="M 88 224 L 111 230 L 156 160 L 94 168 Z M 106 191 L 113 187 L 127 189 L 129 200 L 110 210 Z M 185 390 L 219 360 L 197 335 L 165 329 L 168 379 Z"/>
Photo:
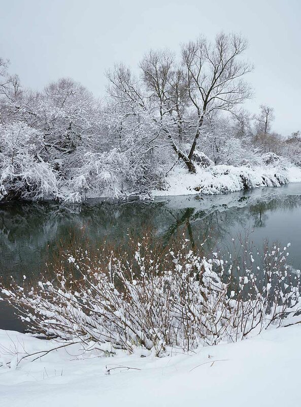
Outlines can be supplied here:
<path id="1" fill-rule="evenodd" d="M 232 112 L 237 105 L 251 97 L 250 86 L 243 77 L 253 67 L 248 61 L 239 59 L 247 45 L 246 39 L 240 35 L 220 33 L 214 43 L 200 37 L 182 46 L 187 91 L 197 116 L 189 160 L 192 159 L 206 115 L 214 110 Z"/>

